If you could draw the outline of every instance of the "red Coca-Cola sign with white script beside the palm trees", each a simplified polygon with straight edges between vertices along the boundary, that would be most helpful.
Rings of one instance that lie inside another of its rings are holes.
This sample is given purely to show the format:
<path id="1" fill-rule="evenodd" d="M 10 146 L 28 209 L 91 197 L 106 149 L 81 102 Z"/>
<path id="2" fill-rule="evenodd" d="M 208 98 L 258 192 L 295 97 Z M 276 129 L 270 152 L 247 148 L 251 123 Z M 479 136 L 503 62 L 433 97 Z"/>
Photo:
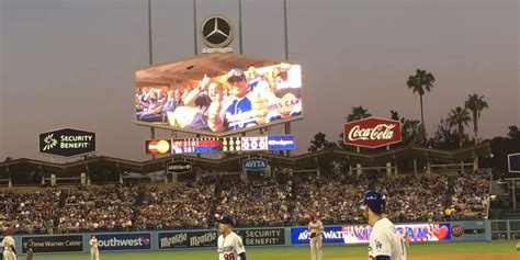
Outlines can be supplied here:
<path id="1" fill-rule="evenodd" d="M 376 148 L 400 142 L 400 122 L 369 117 L 344 124 L 346 145 Z"/>

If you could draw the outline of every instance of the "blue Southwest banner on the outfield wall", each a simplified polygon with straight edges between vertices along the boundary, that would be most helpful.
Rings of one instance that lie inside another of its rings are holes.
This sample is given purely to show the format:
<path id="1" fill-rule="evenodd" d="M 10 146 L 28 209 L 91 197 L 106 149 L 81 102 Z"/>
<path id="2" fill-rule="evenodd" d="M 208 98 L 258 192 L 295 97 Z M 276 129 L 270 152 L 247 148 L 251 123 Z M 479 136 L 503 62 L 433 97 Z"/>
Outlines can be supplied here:
<path id="1" fill-rule="evenodd" d="M 100 250 L 135 250 L 151 249 L 150 234 L 106 234 L 95 235 Z"/>

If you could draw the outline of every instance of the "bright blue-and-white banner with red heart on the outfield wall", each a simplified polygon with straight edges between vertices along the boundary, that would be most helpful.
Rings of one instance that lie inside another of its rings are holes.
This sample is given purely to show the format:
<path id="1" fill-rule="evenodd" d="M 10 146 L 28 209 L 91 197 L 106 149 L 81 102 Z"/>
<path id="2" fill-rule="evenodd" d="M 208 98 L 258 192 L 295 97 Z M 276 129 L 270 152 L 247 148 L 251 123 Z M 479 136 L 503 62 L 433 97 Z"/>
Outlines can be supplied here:
<path id="1" fill-rule="evenodd" d="M 451 225 L 449 223 L 395 225 L 396 231 L 411 242 L 429 242 L 451 240 Z M 326 226 L 324 244 L 368 244 L 372 227 L 369 225 Z M 291 228 L 293 245 L 309 244 L 310 236 L 307 228 Z"/>

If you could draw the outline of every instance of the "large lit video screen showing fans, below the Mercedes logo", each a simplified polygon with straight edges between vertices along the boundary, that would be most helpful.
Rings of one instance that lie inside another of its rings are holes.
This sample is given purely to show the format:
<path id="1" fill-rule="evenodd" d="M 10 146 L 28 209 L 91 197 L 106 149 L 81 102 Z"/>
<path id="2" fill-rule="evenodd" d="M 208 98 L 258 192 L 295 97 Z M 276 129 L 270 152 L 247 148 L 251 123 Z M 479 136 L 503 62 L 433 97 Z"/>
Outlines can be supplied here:
<path id="1" fill-rule="evenodd" d="M 189 76 L 171 66 L 136 71 L 136 123 L 227 136 L 302 117 L 299 65 L 226 66 Z"/>

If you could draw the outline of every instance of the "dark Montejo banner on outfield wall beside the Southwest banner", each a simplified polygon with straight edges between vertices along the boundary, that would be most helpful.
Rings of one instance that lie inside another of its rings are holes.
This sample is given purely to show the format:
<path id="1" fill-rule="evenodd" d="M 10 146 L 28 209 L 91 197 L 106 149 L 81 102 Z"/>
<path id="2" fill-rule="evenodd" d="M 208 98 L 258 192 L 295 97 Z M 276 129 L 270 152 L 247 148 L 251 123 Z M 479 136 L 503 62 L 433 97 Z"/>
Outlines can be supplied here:
<path id="1" fill-rule="evenodd" d="M 159 233 L 159 249 L 216 247 L 217 231 Z"/>

